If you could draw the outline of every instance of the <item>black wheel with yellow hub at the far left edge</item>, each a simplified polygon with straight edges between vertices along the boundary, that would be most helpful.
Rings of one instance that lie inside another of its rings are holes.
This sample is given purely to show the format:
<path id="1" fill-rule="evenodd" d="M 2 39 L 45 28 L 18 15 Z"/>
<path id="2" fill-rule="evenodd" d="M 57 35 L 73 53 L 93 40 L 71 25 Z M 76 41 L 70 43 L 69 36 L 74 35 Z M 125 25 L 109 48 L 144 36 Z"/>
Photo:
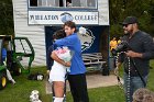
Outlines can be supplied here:
<path id="1" fill-rule="evenodd" d="M 0 89 L 6 88 L 7 86 L 7 75 L 4 71 L 0 72 Z"/>

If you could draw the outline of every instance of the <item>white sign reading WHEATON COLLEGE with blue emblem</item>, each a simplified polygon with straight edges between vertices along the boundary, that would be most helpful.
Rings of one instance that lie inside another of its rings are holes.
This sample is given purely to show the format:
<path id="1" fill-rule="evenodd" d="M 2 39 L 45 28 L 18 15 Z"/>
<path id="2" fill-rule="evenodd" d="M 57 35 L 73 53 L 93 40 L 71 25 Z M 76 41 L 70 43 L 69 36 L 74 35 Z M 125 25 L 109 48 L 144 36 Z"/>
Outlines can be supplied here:
<path id="1" fill-rule="evenodd" d="M 98 12 L 84 11 L 29 11 L 29 24 L 64 24 L 73 21 L 76 24 L 99 24 Z"/>

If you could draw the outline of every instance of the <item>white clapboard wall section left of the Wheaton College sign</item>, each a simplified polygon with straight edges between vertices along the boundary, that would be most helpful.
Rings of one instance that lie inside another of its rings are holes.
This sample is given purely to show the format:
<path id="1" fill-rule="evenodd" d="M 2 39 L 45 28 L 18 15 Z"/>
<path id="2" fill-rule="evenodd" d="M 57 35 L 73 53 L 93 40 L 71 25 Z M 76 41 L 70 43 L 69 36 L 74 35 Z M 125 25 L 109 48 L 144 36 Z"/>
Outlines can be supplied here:
<path id="1" fill-rule="evenodd" d="M 30 39 L 35 50 L 35 59 L 32 66 L 46 65 L 45 34 L 42 25 L 28 25 L 28 1 L 12 0 L 15 36 L 24 36 Z"/>

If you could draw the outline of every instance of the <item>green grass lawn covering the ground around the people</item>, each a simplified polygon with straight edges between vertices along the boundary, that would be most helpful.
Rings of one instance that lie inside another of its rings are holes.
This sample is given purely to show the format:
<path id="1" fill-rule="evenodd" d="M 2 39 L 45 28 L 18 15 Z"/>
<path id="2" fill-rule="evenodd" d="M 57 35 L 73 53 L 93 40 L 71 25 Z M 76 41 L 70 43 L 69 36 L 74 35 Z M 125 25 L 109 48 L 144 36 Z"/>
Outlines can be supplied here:
<path id="1" fill-rule="evenodd" d="M 147 89 L 154 91 L 154 60 L 151 61 L 153 69 L 150 71 Z M 31 72 L 46 72 L 45 67 L 32 68 Z M 28 80 L 28 75 L 14 77 L 16 84 L 8 83 L 7 88 L 0 90 L 0 102 L 29 102 L 29 97 L 32 90 L 38 90 L 43 102 L 52 102 L 52 94 L 45 92 L 44 81 Z M 114 87 L 89 89 L 90 102 L 124 102 L 123 91 Z M 70 92 L 67 93 L 67 102 L 73 102 Z"/>

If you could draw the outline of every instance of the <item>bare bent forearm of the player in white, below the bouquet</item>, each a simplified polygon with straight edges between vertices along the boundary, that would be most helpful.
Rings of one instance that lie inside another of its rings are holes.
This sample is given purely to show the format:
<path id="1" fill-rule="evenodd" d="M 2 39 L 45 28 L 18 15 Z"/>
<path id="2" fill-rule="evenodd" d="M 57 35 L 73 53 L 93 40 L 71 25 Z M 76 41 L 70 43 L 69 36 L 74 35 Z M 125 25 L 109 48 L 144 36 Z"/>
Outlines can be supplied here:
<path id="1" fill-rule="evenodd" d="M 61 58 L 58 58 L 58 56 L 55 54 L 55 50 L 52 52 L 51 57 L 52 57 L 55 61 L 62 64 L 63 66 L 70 67 L 70 63 L 65 63 L 64 60 L 62 60 Z"/>

